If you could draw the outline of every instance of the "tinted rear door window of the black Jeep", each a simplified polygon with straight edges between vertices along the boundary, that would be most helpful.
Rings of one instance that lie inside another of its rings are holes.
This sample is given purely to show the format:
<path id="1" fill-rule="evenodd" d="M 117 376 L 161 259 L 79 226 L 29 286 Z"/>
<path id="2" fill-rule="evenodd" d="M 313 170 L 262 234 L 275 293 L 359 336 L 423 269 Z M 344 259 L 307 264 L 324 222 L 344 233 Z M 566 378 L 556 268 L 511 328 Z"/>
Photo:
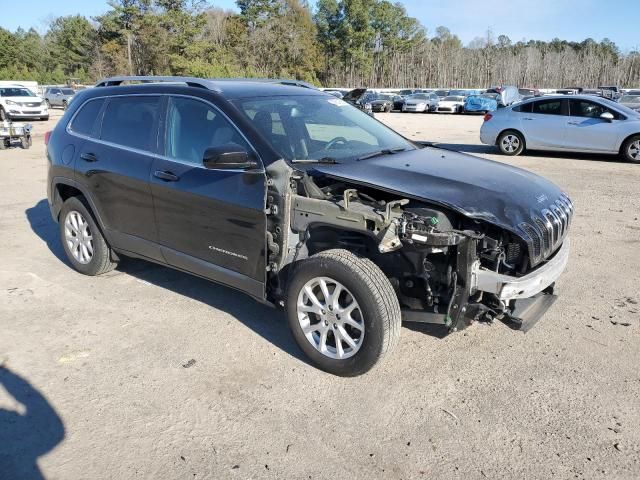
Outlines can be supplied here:
<path id="1" fill-rule="evenodd" d="M 100 138 L 138 150 L 153 150 L 160 97 L 114 97 L 104 112 Z"/>

